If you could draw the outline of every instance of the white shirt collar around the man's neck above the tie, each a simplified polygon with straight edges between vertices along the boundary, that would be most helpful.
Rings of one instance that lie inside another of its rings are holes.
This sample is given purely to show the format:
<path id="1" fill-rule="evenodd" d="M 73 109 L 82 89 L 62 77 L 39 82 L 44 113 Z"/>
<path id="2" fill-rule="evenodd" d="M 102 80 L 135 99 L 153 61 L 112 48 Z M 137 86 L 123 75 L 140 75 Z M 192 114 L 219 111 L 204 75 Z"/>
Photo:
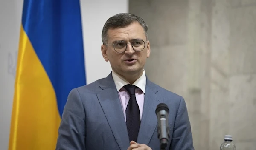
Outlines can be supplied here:
<path id="1" fill-rule="evenodd" d="M 123 86 L 130 84 L 128 81 L 126 81 L 124 78 L 116 74 L 114 71 L 112 71 L 112 77 L 116 85 L 116 90 L 119 91 Z M 146 74 L 145 70 L 143 69 L 143 74 L 140 76 L 139 79 L 137 79 L 132 85 L 136 85 L 138 88 L 145 93 L 146 88 Z"/>

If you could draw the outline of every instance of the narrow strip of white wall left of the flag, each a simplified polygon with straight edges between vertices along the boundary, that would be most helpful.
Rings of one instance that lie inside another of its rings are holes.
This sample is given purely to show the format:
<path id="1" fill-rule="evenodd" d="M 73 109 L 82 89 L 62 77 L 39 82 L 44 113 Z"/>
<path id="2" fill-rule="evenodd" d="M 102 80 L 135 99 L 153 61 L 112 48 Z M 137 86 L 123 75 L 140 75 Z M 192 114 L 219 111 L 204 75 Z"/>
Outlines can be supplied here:
<path id="1" fill-rule="evenodd" d="M 0 150 L 8 150 L 23 0 L 0 0 Z"/>

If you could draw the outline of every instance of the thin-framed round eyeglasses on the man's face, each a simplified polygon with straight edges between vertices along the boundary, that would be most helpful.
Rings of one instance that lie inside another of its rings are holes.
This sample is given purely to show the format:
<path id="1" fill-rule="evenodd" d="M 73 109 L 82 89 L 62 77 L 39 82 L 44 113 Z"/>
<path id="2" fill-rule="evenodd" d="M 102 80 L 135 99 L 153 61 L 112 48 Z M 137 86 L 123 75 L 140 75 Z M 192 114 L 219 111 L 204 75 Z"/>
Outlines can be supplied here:
<path id="1" fill-rule="evenodd" d="M 134 40 L 133 42 L 131 42 L 131 46 L 134 49 L 134 51 L 142 51 L 145 48 L 145 43 L 143 40 Z M 118 41 L 115 42 L 114 44 L 104 44 L 104 45 L 112 45 L 114 47 L 114 50 L 117 53 L 123 53 L 126 51 L 127 45 L 129 43 L 126 43 L 124 41 Z"/>

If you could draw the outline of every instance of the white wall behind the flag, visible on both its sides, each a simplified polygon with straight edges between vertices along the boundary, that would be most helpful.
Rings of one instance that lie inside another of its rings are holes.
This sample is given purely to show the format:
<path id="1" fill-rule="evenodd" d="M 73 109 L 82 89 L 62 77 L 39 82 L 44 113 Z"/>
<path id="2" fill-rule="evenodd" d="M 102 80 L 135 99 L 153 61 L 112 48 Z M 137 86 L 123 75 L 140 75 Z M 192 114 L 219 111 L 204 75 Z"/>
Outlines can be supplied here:
<path id="1" fill-rule="evenodd" d="M 107 76 L 101 31 L 114 14 L 128 12 L 128 0 L 80 0 L 87 83 Z M 23 0 L 0 0 L 0 150 L 8 150 Z"/>

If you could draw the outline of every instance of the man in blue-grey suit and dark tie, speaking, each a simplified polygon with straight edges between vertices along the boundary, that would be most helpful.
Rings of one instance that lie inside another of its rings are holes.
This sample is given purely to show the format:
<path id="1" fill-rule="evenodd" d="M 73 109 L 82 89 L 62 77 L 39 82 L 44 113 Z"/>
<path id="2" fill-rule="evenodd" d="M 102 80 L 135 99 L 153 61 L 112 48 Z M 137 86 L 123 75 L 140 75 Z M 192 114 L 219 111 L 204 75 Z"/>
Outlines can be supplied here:
<path id="1" fill-rule="evenodd" d="M 160 150 L 155 114 L 159 103 L 170 110 L 166 150 L 193 150 L 183 97 L 145 75 L 150 56 L 146 23 L 134 14 L 116 14 L 105 23 L 102 42 L 102 56 L 113 71 L 70 92 L 56 150 Z"/>

